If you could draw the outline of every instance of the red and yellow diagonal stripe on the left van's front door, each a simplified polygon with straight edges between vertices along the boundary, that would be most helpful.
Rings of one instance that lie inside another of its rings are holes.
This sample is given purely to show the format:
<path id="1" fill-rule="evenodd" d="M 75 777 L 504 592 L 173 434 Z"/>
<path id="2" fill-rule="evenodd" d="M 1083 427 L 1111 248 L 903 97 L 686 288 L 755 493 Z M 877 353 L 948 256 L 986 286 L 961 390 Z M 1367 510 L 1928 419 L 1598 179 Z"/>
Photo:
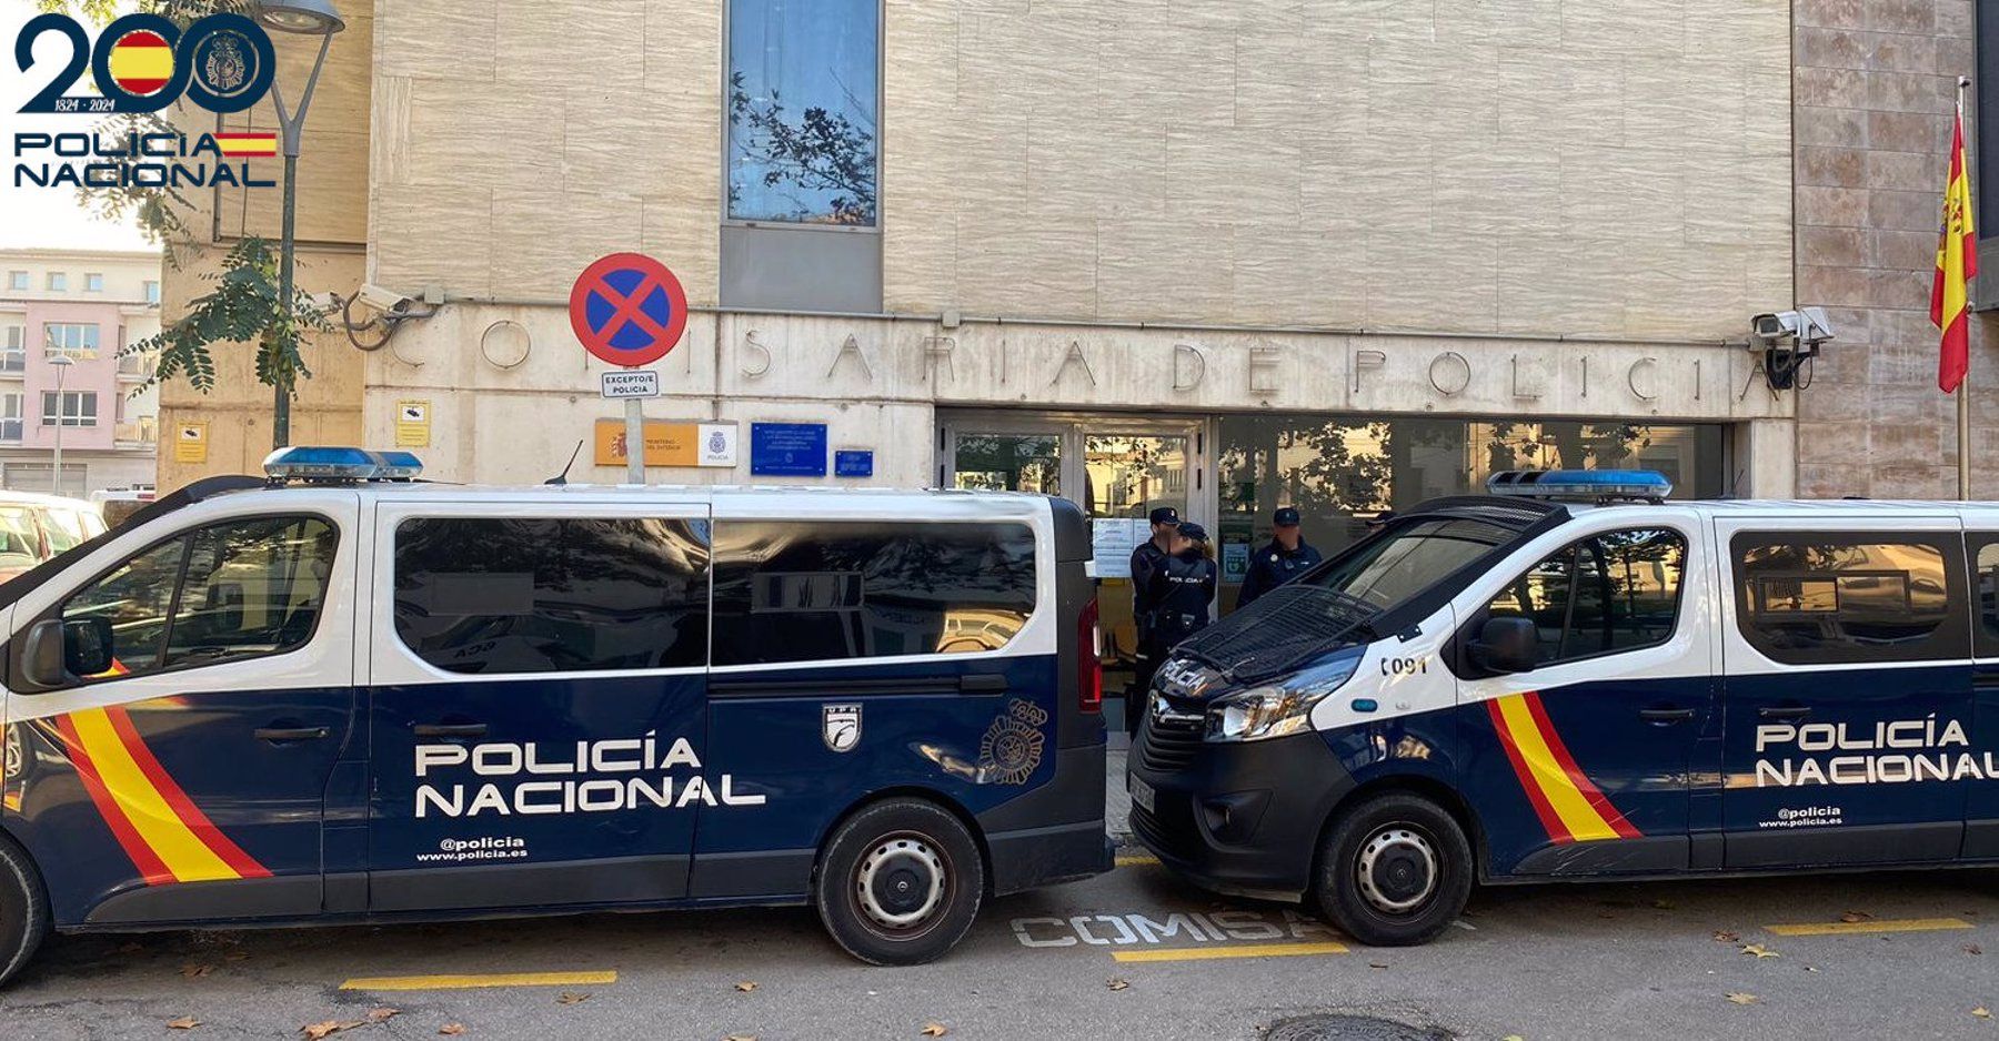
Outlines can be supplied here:
<path id="1" fill-rule="evenodd" d="M 72 711 L 54 723 L 76 775 L 146 885 L 270 877 L 174 783 L 124 707 Z"/>

